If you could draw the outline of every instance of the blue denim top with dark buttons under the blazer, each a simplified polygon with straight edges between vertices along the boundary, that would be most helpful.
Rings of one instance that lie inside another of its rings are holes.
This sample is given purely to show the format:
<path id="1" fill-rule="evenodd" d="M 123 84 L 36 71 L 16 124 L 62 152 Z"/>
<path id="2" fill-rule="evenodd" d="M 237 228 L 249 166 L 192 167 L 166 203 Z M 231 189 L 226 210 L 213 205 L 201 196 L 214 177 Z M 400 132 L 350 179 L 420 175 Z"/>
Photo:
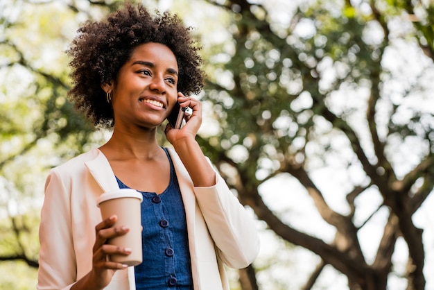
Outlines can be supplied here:
<path id="1" fill-rule="evenodd" d="M 162 194 L 139 191 L 143 262 L 135 266 L 136 289 L 193 289 L 184 204 L 170 155 L 171 180 Z M 144 177 L 146 178 L 146 177 Z M 120 188 L 129 188 L 116 178 Z"/>

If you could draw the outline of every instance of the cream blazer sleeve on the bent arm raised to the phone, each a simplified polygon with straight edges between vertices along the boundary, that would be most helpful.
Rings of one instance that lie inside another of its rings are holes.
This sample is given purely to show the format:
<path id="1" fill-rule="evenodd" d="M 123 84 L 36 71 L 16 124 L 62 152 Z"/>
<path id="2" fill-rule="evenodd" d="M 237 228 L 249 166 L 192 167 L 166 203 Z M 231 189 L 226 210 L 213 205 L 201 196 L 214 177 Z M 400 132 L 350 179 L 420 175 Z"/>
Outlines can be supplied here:
<path id="1" fill-rule="evenodd" d="M 256 223 L 225 180 L 216 172 L 216 185 L 194 191 L 218 257 L 231 268 L 252 264 L 259 253 Z"/>

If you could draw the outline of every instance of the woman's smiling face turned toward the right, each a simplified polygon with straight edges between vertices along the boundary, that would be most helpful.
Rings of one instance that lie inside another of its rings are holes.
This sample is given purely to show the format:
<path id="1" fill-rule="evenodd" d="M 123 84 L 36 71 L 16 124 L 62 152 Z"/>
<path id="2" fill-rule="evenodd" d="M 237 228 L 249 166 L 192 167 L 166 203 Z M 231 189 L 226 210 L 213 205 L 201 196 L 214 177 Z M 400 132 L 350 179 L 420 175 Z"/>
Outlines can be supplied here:
<path id="1" fill-rule="evenodd" d="M 164 44 L 137 46 L 119 70 L 111 89 L 115 127 L 159 126 L 177 101 L 178 67 L 175 55 Z"/>

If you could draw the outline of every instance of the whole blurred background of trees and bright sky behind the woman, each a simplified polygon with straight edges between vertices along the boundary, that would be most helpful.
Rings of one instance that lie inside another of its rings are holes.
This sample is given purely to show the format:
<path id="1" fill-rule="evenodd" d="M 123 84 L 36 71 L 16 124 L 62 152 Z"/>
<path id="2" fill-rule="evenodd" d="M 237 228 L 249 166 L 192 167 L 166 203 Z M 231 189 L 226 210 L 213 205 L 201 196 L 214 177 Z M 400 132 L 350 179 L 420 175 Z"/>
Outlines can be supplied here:
<path id="1" fill-rule="evenodd" d="M 198 142 L 261 232 L 232 290 L 434 289 L 433 1 L 141 3 L 202 44 Z M 117 4 L 0 0 L 0 289 L 35 289 L 49 169 L 110 137 L 64 51 Z"/>

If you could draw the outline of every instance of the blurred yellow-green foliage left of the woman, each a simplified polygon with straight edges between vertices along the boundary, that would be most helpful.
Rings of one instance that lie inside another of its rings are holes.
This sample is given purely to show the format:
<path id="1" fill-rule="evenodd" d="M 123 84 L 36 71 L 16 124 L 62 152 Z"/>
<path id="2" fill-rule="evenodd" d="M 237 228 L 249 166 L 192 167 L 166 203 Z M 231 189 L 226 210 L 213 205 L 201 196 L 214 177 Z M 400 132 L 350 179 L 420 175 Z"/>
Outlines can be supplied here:
<path id="1" fill-rule="evenodd" d="M 77 8 L 19 2 L 0 5 L 2 289 L 34 289 L 47 171 L 98 140 L 66 100 L 69 78 L 62 53 L 76 29 L 62 24 L 79 22 L 92 8 L 77 16 Z"/>

